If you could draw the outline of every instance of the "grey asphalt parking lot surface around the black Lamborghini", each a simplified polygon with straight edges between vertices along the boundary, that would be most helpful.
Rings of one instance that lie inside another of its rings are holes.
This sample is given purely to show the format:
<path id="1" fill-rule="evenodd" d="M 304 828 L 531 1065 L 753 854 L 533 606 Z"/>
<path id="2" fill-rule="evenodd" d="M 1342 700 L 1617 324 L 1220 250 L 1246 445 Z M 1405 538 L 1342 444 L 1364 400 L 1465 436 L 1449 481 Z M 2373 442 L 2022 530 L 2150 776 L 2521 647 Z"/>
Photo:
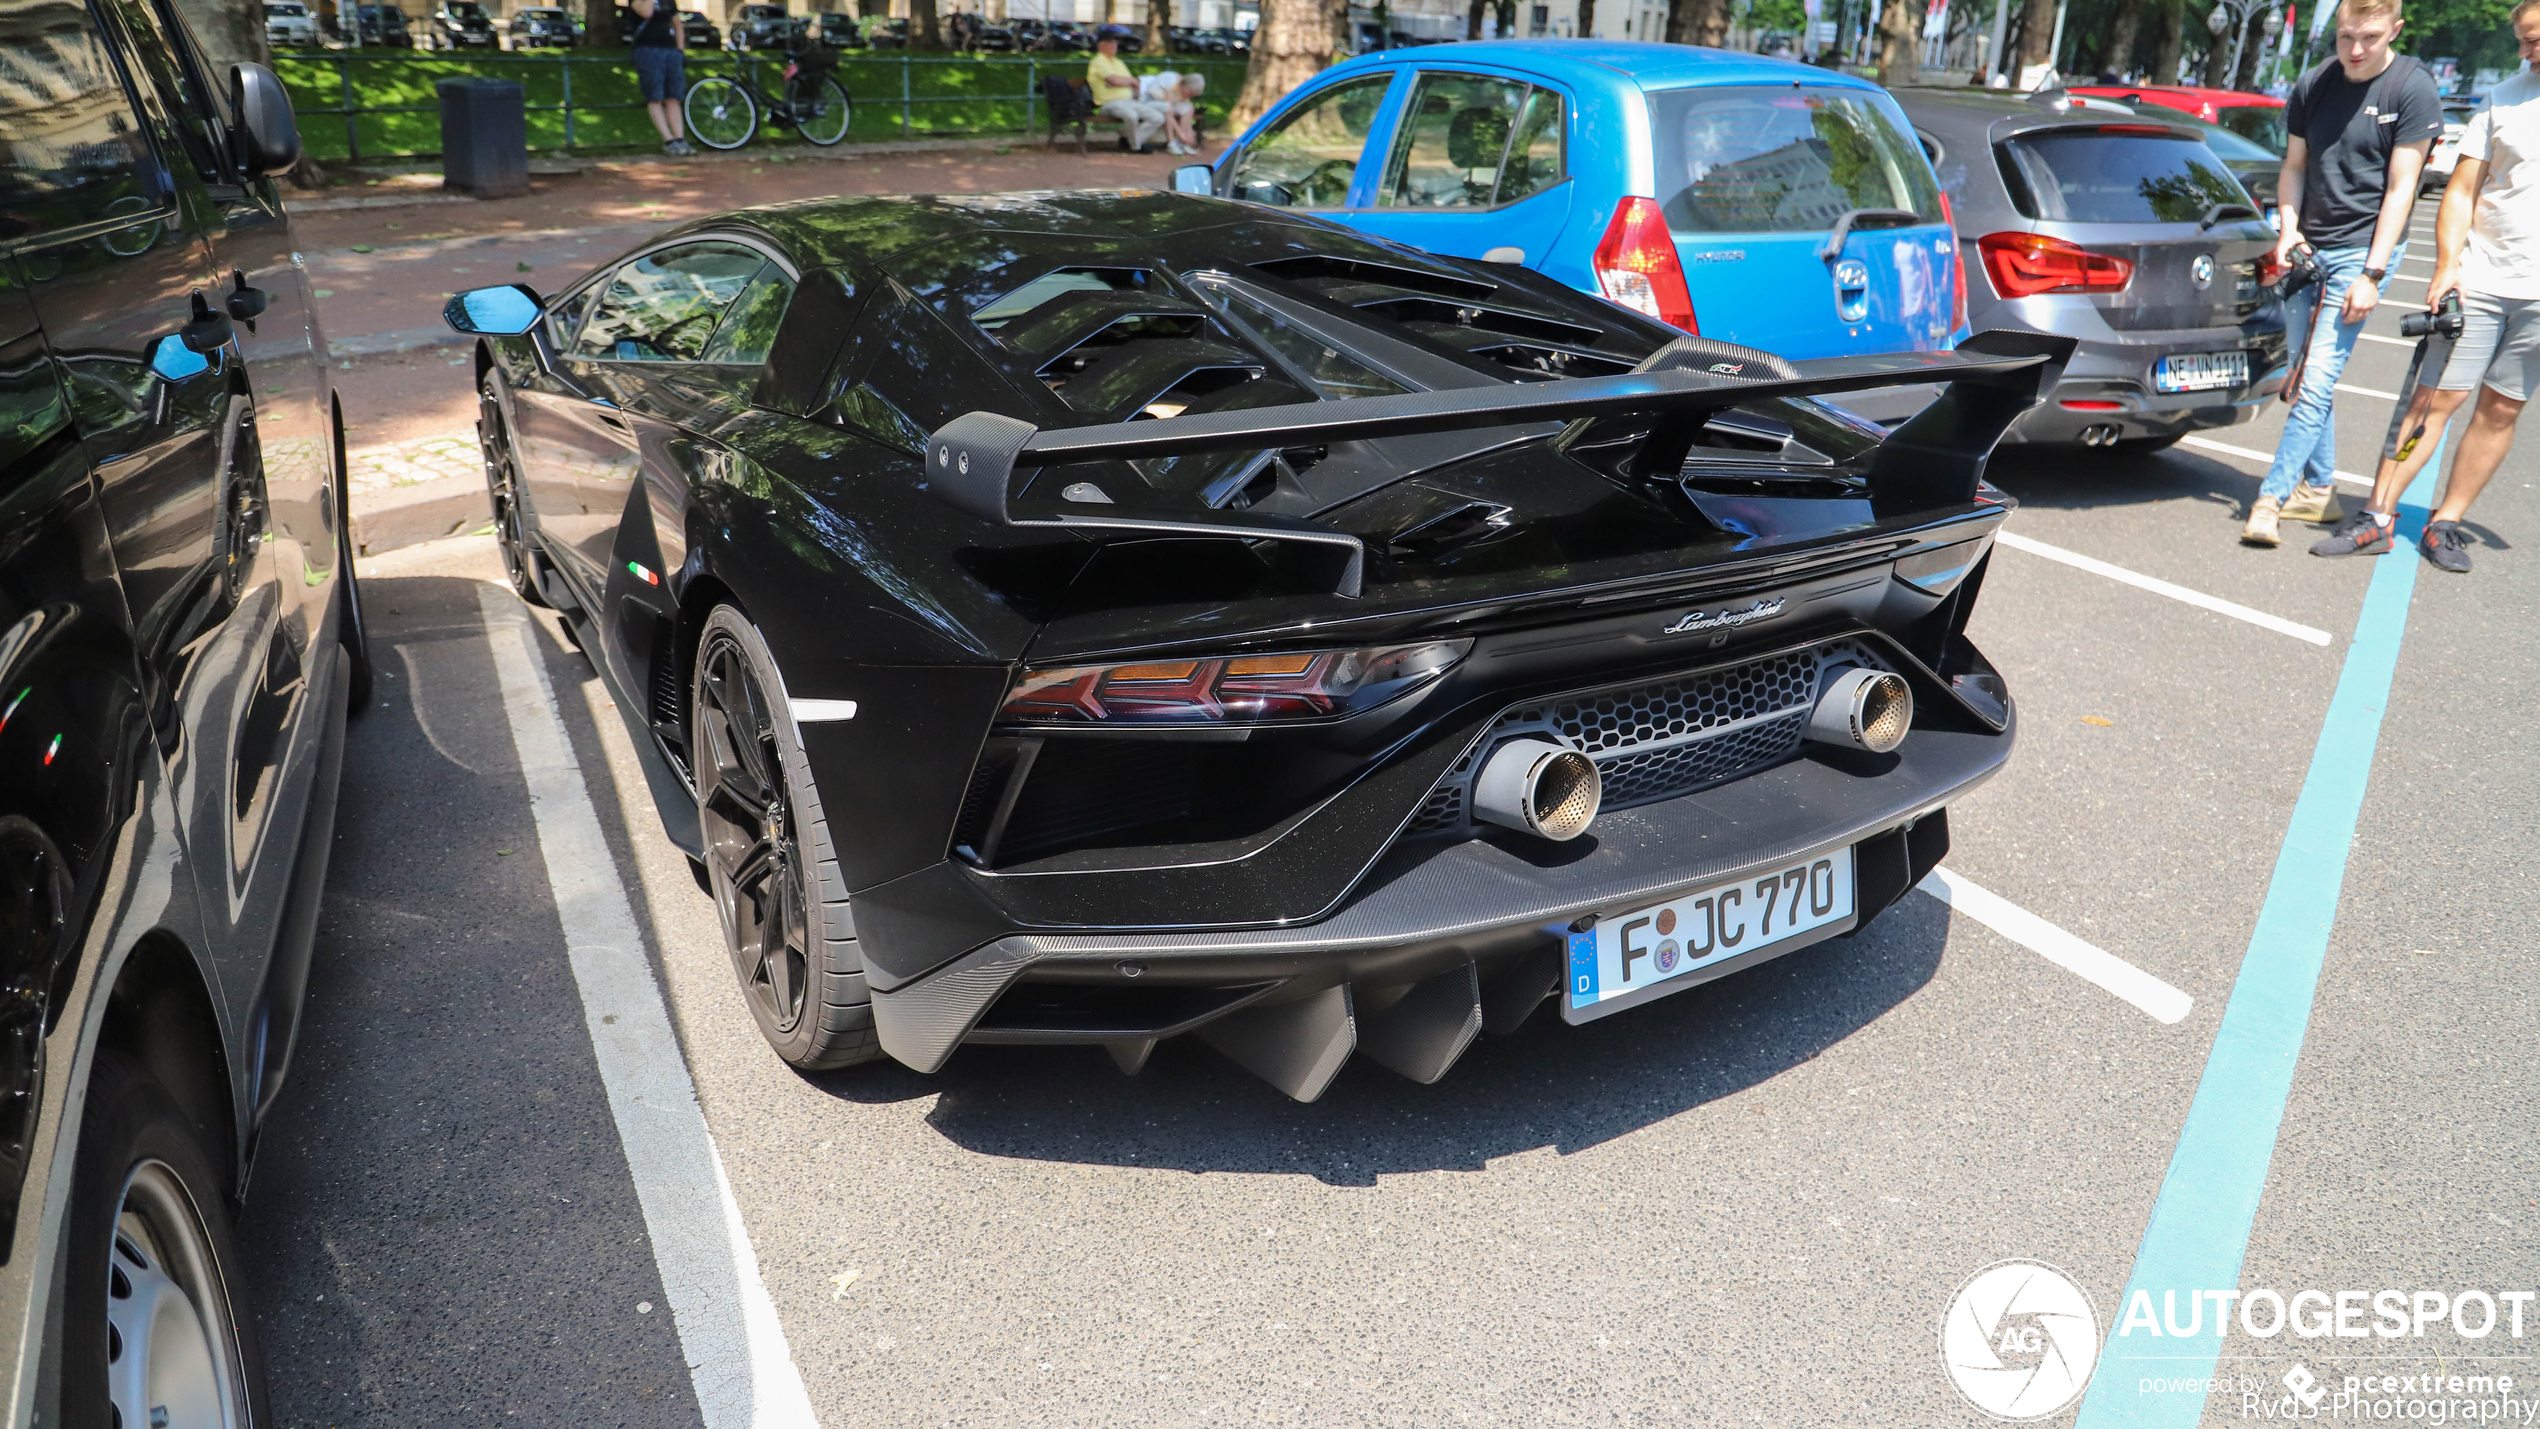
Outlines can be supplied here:
<path id="1" fill-rule="evenodd" d="M 2365 343 L 2347 381 L 2390 391 L 2405 355 Z M 2339 409 L 2339 464 L 2370 470 L 2388 404 Z M 2121 1315 L 2372 579 L 2309 533 L 2240 548 L 2256 472 L 1996 462 L 2012 530 L 2327 647 L 2022 551 L 1974 627 L 2024 723 L 1948 866 L 2184 990 L 2184 1020 L 1918 893 L 1618 1018 L 1537 1015 L 1438 1086 L 1361 1058 L 1311 1107 L 1186 1041 L 1138 1079 L 1046 1048 L 785 1071 L 625 728 L 533 629 L 820 1424 L 1979 1424 L 1935 1343 L 1979 1267 L 2057 1264 Z M 2527 447 L 2474 513 L 2476 571 L 2416 581 L 2342 893 L 2278 888 L 2334 924 L 2240 1284 L 2532 1287 L 2535 480 Z M 277 1419 L 696 1424 L 503 723 L 493 551 L 366 566 L 384 706 L 246 1216 Z M 2258 1358 L 2220 1371 L 2540 1381 L 2530 1320 L 2238 1343 Z"/>

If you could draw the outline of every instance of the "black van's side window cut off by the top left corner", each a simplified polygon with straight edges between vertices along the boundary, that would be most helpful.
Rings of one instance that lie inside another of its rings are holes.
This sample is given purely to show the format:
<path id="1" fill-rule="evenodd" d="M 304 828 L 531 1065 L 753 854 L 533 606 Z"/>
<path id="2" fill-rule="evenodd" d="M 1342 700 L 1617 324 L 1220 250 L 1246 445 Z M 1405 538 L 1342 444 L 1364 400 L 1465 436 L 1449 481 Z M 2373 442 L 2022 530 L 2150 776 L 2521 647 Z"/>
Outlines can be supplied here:
<path id="1" fill-rule="evenodd" d="M 0 239 L 157 206 L 142 122 L 86 5 L 0 5 Z"/>

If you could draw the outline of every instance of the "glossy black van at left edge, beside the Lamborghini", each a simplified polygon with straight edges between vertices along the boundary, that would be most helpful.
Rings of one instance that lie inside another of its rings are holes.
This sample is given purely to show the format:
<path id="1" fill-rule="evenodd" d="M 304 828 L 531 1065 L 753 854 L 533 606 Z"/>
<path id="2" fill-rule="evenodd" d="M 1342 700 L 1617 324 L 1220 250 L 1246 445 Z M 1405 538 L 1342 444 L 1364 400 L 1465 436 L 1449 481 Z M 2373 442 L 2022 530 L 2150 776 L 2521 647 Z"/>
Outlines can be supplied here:
<path id="1" fill-rule="evenodd" d="M 13 0 L 0 71 L 10 1421 L 264 1424 L 231 1213 L 371 680 L 300 135 L 170 0 Z"/>

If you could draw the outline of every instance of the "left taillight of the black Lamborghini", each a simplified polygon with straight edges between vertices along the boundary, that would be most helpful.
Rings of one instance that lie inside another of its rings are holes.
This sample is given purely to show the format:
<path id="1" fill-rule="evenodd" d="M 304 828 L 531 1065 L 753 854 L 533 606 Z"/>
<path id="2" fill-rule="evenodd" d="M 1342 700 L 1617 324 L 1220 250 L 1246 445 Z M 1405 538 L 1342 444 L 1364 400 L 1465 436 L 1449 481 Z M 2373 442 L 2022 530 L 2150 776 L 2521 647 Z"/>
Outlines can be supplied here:
<path id="1" fill-rule="evenodd" d="M 998 723 L 1273 723 L 1382 706 L 1440 678 L 1471 640 L 1024 670 Z"/>

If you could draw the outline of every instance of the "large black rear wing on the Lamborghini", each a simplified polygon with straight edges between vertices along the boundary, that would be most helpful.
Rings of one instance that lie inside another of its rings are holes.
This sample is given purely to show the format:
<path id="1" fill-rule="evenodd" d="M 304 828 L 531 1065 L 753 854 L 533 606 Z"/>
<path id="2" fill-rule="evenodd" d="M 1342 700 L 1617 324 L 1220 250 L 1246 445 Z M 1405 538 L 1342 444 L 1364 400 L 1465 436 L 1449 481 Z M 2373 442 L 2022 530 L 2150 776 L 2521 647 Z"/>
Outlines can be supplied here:
<path id="1" fill-rule="evenodd" d="M 1013 472 L 1184 452 L 1313 447 L 1473 426 L 1648 416 L 1651 426 L 1641 439 L 1633 470 L 1671 475 L 1684 464 L 1687 449 L 1714 411 L 1786 396 L 1948 383 L 1930 406 L 1887 434 L 1869 467 L 1869 490 L 1882 505 L 1963 505 L 1976 497 L 1976 480 L 2002 434 L 2055 388 L 2073 345 L 2073 338 L 1991 330 L 1976 333 L 1956 353 L 1816 358 L 1786 363 L 1783 371 L 1796 376 L 1765 381 L 1737 376 L 1737 363 L 1714 363 L 1712 371 L 1641 371 L 1610 378 L 1300 401 L 1049 431 L 1013 416 L 970 411 L 942 424 L 927 439 L 927 490 L 996 525 L 1074 525 L 1328 546 L 1336 556 L 1346 551 L 1334 574 L 1334 589 L 1356 596 L 1367 551 L 1356 536 L 1318 520 L 1209 508 L 1138 510 L 1110 505 L 1100 495 L 1095 500 L 1031 500 L 1016 508 L 1011 497 Z"/>

